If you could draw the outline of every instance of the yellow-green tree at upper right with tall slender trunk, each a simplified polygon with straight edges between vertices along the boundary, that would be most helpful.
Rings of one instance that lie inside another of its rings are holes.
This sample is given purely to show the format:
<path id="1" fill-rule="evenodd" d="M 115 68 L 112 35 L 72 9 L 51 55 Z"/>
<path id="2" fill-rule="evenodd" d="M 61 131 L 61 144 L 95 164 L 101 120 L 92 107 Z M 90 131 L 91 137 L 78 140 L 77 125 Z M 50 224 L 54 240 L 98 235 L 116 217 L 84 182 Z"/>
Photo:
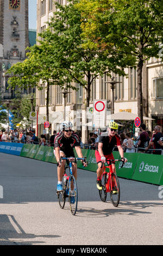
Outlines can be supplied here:
<path id="1" fill-rule="evenodd" d="M 142 68 L 151 57 L 159 58 L 162 42 L 162 0 L 81 0 L 83 34 L 99 45 L 112 42 L 120 54 L 135 59 L 137 108 L 143 121 Z M 90 26 L 90 29 L 89 29 Z"/>

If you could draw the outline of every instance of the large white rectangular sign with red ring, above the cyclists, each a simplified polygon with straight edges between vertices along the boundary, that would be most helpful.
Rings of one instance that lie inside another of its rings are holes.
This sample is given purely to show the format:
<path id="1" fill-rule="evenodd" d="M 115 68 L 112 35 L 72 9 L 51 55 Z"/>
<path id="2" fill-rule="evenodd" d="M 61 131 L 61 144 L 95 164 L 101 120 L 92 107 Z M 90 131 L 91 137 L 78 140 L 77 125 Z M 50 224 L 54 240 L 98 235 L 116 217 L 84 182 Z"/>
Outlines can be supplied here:
<path id="1" fill-rule="evenodd" d="M 93 127 L 104 128 L 106 126 L 106 104 L 106 100 L 93 100 Z"/>

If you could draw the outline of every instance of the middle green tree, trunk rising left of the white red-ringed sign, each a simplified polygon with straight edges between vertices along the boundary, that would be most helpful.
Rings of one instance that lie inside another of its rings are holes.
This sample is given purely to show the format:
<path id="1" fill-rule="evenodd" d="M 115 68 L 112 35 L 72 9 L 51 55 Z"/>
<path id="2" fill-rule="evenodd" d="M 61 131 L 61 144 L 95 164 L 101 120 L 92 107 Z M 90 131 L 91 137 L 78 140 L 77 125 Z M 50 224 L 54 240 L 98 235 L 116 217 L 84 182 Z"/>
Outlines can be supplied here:
<path id="1" fill-rule="evenodd" d="M 111 71 L 125 75 L 124 67 L 131 64 L 131 58 L 117 53 L 112 44 L 99 48 L 83 38 L 81 11 L 76 3 L 78 1 L 65 6 L 56 4 L 58 11 L 48 22 L 49 29 L 40 36 L 53 51 L 53 69 L 58 76 L 58 84 L 64 83 L 76 89 L 72 86 L 72 82 L 76 82 L 84 87 L 86 106 L 89 106 L 93 80 L 99 75 L 110 75 Z"/>

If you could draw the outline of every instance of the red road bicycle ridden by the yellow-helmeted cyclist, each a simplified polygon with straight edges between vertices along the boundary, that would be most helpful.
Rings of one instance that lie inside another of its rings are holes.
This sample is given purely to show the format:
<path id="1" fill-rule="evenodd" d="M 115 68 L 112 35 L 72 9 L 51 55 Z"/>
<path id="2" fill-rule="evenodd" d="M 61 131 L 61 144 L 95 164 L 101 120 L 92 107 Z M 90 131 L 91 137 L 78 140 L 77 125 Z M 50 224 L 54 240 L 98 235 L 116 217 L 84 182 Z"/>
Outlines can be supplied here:
<path id="1" fill-rule="evenodd" d="M 99 190 L 99 197 L 102 202 L 106 201 L 107 193 L 110 193 L 110 199 L 112 204 L 117 207 L 120 202 L 120 182 L 118 181 L 117 175 L 113 172 L 111 163 L 119 161 L 123 162 L 123 160 L 106 160 L 104 164 L 103 174 L 102 174 L 102 190 Z M 109 163 L 108 163 L 109 162 Z M 106 165 L 107 164 L 107 165 Z M 123 164 L 121 167 L 123 167 Z M 106 171 L 106 168 L 109 169 L 109 172 Z"/>

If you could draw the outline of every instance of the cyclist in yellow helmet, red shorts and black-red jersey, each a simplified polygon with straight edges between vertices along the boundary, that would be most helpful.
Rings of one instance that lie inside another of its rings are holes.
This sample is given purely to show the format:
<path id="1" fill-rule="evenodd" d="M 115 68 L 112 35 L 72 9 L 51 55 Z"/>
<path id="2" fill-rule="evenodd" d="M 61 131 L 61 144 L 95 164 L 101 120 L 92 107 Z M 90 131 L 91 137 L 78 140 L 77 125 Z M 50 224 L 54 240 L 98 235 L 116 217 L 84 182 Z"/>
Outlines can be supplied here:
<path id="1" fill-rule="evenodd" d="M 102 182 L 101 182 L 101 176 L 103 173 L 102 163 L 105 163 L 106 160 L 114 159 L 114 156 L 112 155 L 112 150 L 114 149 L 115 145 L 117 145 L 121 159 L 124 162 L 127 162 L 127 159 L 124 158 L 120 136 L 116 134 L 117 129 L 118 129 L 118 124 L 115 122 L 110 122 L 108 125 L 108 131 L 102 133 L 101 136 L 99 137 L 98 147 L 95 150 L 96 161 L 98 164 L 98 169 L 97 169 L 98 190 L 102 190 Z M 116 173 L 115 162 L 112 162 L 112 170 L 114 173 Z M 114 188 L 114 191 L 116 193 L 116 187 Z"/>

